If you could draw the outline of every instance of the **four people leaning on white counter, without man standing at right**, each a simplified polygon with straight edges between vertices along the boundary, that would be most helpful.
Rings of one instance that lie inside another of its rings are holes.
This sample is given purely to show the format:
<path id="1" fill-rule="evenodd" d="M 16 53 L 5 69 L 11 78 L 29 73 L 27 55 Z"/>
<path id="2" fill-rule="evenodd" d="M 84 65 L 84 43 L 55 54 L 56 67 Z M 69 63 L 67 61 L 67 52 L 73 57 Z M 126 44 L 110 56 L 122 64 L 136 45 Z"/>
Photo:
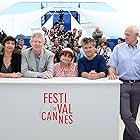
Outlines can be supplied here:
<path id="1" fill-rule="evenodd" d="M 96 42 L 83 38 L 82 46 L 85 56 L 74 63 L 74 52 L 71 48 L 60 51 L 60 62 L 54 64 L 54 53 L 44 47 L 44 36 L 34 33 L 30 39 L 31 47 L 20 53 L 14 53 L 16 40 L 7 36 L 3 40 L 3 53 L 0 55 L 0 77 L 77 77 L 98 79 L 107 75 L 103 56 L 96 54 Z"/>

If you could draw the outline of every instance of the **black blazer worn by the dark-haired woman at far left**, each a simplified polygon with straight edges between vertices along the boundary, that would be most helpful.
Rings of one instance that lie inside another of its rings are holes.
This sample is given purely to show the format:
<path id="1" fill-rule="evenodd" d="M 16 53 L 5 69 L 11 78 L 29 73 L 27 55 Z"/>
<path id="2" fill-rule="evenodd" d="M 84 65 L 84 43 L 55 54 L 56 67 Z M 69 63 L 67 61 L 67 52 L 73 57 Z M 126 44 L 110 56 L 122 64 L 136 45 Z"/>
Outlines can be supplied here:
<path id="1" fill-rule="evenodd" d="M 0 54 L 0 71 L 3 63 L 3 54 Z M 21 72 L 21 54 L 12 54 L 11 59 L 12 72 Z"/>

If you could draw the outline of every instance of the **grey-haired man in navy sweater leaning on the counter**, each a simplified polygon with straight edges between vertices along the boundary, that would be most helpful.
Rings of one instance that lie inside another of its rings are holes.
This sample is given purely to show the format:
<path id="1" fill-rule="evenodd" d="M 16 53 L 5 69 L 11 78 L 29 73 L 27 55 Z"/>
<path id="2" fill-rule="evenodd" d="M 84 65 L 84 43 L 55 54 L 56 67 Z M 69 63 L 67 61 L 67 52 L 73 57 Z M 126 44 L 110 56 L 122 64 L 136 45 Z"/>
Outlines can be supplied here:
<path id="1" fill-rule="evenodd" d="M 83 38 L 82 48 L 85 56 L 78 60 L 79 76 L 93 80 L 107 75 L 107 66 L 102 55 L 96 53 L 95 39 Z"/>

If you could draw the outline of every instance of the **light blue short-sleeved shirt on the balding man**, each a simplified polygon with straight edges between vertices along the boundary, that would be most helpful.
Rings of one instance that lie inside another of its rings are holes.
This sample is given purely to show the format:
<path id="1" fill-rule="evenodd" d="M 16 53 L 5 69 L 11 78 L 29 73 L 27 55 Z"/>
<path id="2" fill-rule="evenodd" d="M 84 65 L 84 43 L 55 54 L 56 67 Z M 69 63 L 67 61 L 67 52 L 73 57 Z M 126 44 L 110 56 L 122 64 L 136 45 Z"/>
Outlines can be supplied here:
<path id="1" fill-rule="evenodd" d="M 140 43 L 136 46 L 121 43 L 115 46 L 108 62 L 124 80 L 140 80 Z"/>

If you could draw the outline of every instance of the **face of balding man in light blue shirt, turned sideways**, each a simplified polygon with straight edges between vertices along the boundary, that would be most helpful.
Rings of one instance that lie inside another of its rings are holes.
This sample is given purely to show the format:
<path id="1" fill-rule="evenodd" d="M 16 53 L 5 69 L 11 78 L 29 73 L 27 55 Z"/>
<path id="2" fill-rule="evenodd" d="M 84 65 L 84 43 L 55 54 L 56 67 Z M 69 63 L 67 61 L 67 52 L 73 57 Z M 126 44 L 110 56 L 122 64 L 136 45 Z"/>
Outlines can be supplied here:
<path id="1" fill-rule="evenodd" d="M 127 44 L 133 45 L 137 41 L 138 33 L 134 32 L 132 28 L 125 30 L 125 41 Z"/>

